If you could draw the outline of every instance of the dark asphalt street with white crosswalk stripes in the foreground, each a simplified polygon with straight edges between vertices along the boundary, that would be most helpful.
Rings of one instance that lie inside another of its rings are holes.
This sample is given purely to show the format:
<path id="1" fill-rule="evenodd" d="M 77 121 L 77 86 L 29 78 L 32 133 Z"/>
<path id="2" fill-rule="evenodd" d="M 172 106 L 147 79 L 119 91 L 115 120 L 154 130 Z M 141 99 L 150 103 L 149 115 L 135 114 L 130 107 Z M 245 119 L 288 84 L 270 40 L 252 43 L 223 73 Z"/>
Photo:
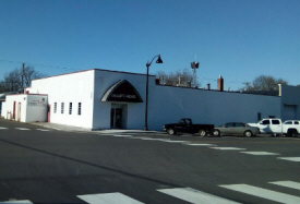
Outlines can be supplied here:
<path id="1" fill-rule="evenodd" d="M 65 132 L 0 119 L 0 202 L 300 203 L 300 137 Z"/>

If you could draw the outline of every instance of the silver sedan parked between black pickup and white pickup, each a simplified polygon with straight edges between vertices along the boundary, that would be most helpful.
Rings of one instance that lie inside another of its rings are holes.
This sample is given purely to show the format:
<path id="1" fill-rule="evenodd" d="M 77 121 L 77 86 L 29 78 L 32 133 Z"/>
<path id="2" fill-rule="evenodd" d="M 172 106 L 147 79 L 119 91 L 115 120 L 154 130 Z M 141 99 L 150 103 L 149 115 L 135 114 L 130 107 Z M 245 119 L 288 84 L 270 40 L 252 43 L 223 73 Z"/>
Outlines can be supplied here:
<path id="1" fill-rule="evenodd" d="M 239 134 L 248 137 L 261 133 L 259 128 L 250 127 L 242 122 L 228 122 L 224 125 L 216 127 L 215 131 L 218 131 L 218 133 L 223 135 Z"/>

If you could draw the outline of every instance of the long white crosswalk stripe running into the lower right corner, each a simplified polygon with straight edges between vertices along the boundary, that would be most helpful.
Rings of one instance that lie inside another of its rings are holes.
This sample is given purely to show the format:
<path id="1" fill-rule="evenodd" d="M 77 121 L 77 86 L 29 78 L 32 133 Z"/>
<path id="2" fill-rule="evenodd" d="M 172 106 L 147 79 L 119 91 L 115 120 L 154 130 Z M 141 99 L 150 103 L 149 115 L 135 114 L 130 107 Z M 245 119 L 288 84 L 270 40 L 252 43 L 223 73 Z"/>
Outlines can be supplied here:
<path id="1" fill-rule="evenodd" d="M 262 199 L 275 201 L 275 202 L 280 202 L 280 203 L 289 203 L 289 204 L 298 204 L 300 203 L 300 197 L 276 192 L 276 191 L 271 191 L 267 189 L 262 189 L 253 185 L 248 185 L 248 184 L 225 184 L 225 185 L 219 185 L 225 189 L 229 189 L 232 191 L 238 191 L 241 193 L 259 196 Z"/>

